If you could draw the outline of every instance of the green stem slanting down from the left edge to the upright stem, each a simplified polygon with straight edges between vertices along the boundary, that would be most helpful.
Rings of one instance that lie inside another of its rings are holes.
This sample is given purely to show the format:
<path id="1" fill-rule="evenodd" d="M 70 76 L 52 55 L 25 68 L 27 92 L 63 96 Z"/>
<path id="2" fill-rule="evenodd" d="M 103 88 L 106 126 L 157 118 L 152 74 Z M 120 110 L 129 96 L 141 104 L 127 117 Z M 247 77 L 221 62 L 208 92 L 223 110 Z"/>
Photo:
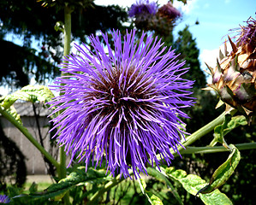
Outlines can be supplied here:
<path id="1" fill-rule="evenodd" d="M 3 117 L 9 122 L 11 122 L 15 127 L 17 127 L 24 135 L 27 137 L 27 139 L 37 148 L 39 151 L 45 155 L 45 158 L 49 160 L 55 167 L 57 167 L 57 170 L 59 169 L 60 165 L 59 163 L 45 150 L 45 148 L 39 144 L 39 142 L 33 138 L 33 135 L 27 131 L 27 128 L 25 126 L 22 126 L 15 118 L 9 114 L 7 111 L 0 108 L 0 113 L 3 115 Z"/>

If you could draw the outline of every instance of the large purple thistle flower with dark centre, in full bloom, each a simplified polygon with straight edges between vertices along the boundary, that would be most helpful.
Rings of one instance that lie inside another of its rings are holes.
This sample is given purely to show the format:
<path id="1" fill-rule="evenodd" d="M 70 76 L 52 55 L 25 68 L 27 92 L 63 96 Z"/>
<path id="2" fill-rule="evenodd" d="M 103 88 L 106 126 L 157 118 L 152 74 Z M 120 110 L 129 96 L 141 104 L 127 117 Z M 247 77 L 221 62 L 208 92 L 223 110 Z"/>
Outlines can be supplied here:
<path id="1" fill-rule="evenodd" d="M 178 152 L 185 133 L 178 117 L 188 117 L 180 108 L 193 104 L 187 91 L 193 81 L 181 77 L 188 67 L 182 68 L 174 50 L 145 33 L 136 39 L 134 31 L 124 38 L 111 32 L 114 50 L 108 35 L 102 35 L 106 46 L 91 36 L 94 53 L 85 44 L 75 45 L 80 56 L 64 59 L 69 63 L 61 70 L 69 77 L 57 79 L 55 87 L 63 95 L 50 102 L 57 108 L 53 114 L 63 110 L 52 120 L 59 144 L 86 167 L 91 159 L 101 166 L 105 157 L 113 176 L 116 171 L 127 178 L 129 168 L 135 176 L 146 173 L 147 162 L 159 165 L 157 154 L 170 164 L 170 149 Z"/>

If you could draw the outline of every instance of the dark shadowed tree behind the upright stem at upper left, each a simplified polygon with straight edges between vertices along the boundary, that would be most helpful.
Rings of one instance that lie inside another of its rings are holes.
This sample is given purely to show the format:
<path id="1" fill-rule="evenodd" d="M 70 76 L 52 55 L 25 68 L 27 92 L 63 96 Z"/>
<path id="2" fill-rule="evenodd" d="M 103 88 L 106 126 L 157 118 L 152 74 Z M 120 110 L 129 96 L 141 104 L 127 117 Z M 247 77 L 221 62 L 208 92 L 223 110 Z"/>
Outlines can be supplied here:
<path id="1" fill-rule="evenodd" d="M 55 1 L 61 5 L 63 1 Z M 123 29 L 122 22 L 128 19 L 127 13 L 119 6 L 98 6 L 92 0 L 69 1 L 74 5 L 72 13 L 72 34 L 74 39 L 86 43 L 86 37 L 101 30 Z M 81 4 L 83 3 L 83 4 Z M 29 83 L 33 76 L 43 83 L 59 75 L 57 64 L 63 56 L 62 30 L 63 8 L 43 7 L 38 1 L 12 0 L 0 3 L 0 46 L 2 71 L 1 84 L 21 87 Z M 3 40 L 13 33 L 21 37 L 19 46 Z M 39 42 L 41 50 L 33 48 L 32 40 Z"/>

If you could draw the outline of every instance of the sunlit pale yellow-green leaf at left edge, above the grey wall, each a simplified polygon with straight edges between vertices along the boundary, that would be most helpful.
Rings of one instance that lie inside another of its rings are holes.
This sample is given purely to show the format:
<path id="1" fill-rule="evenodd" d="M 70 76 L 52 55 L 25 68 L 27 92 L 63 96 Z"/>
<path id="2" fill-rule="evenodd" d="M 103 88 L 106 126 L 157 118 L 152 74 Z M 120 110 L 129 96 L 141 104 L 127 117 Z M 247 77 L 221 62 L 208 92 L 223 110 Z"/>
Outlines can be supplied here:
<path id="1" fill-rule="evenodd" d="M 48 87 L 44 85 L 27 85 L 19 91 L 0 98 L 0 105 L 8 109 L 16 100 L 28 102 L 49 102 L 54 97 Z"/>

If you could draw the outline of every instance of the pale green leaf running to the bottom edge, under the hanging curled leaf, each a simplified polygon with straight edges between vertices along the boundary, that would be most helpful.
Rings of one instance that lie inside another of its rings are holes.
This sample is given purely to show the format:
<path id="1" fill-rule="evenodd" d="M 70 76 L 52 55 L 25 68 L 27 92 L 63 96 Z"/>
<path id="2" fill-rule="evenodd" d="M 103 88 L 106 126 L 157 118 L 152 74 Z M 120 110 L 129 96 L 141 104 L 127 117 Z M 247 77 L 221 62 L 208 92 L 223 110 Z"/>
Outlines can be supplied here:
<path id="1" fill-rule="evenodd" d="M 205 183 L 204 179 L 194 174 L 187 174 L 185 171 L 174 167 L 161 168 L 162 172 L 166 174 L 170 179 L 180 182 L 185 190 L 193 196 L 197 196 L 198 191 L 208 185 Z M 221 193 L 219 190 L 213 190 L 209 194 L 199 193 L 199 198 L 207 205 L 219 205 L 225 204 L 229 205 L 232 202 L 229 200 L 228 196 Z"/>

